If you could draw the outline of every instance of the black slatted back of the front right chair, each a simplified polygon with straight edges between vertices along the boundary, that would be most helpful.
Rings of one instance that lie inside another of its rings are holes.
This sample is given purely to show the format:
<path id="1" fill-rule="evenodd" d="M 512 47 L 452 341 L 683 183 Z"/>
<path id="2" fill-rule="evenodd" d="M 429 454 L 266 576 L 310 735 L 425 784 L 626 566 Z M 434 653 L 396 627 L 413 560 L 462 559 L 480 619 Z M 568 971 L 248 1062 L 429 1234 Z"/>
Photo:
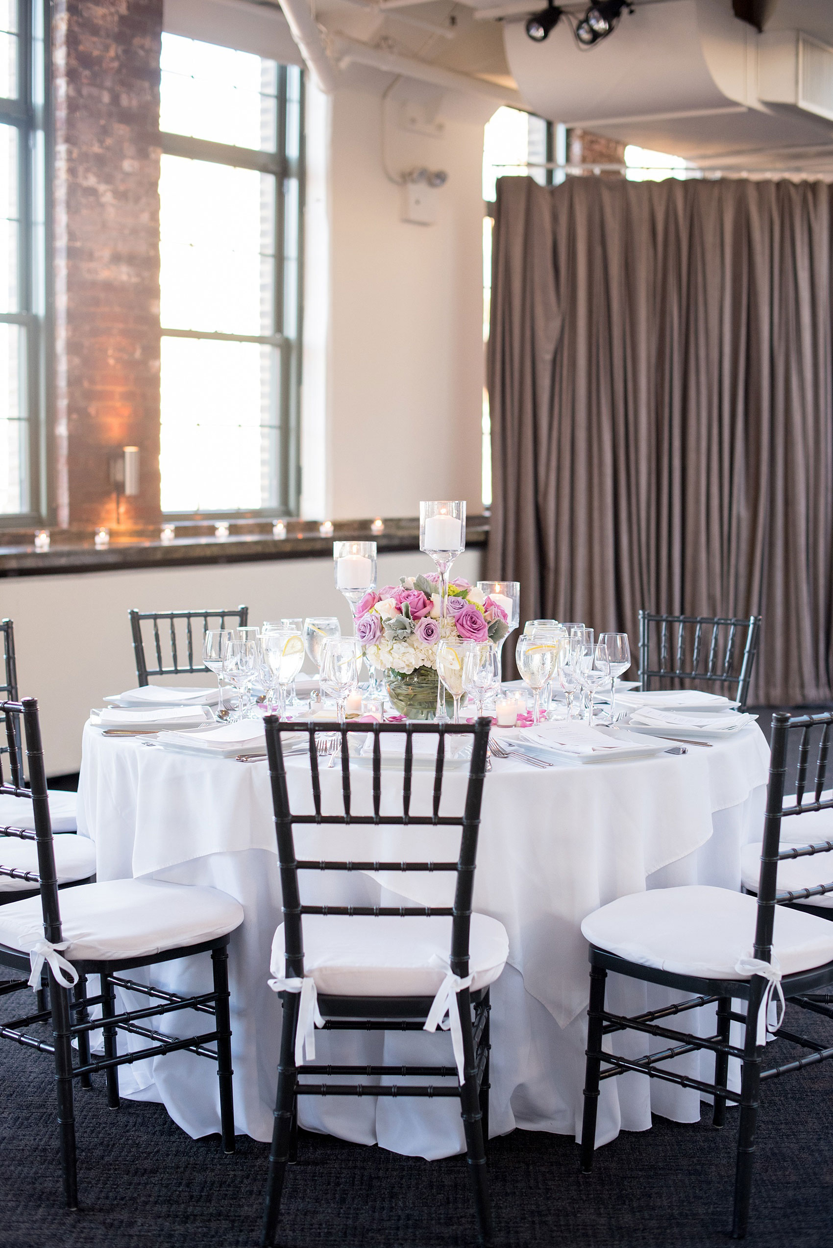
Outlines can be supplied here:
<path id="1" fill-rule="evenodd" d="M 833 711 L 823 715 L 796 715 L 792 718 L 786 711 L 776 711 L 772 716 L 769 784 L 767 787 L 767 812 L 763 821 L 763 846 L 761 850 L 761 874 L 758 876 L 758 910 L 754 930 L 754 956 L 762 958 L 764 962 L 772 960 L 776 906 L 811 897 L 821 897 L 833 892 L 833 882 L 794 891 L 778 890 L 779 862 L 787 859 L 811 857 L 816 854 L 833 852 L 833 840 L 803 846 L 791 842 L 789 849 L 781 849 L 783 819 L 808 815 L 819 810 L 833 810 L 833 794 L 827 799 L 823 797 L 832 724 Z M 817 731 L 819 734 L 818 761 L 811 785 L 814 799 L 813 801 L 804 802 L 811 744 Z M 791 733 L 801 733 L 801 739 L 796 766 L 796 801 L 794 805 L 786 806 L 784 791 L 787 789 L 787 760 Z M 831 874 L 833 875 L 833 866 L 831 867 Z"/>

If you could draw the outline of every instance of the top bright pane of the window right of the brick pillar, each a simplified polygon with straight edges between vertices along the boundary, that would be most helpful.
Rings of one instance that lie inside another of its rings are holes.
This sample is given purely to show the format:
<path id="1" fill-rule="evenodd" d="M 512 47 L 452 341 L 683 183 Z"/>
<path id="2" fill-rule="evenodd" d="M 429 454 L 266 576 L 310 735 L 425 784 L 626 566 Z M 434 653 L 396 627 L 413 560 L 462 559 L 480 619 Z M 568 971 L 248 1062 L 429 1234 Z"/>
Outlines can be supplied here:
<path id="1" fill-rule="evenodd" d="M 163 34 L 161 67 L 160 130 L 274 151 L 274 61 Z"/>

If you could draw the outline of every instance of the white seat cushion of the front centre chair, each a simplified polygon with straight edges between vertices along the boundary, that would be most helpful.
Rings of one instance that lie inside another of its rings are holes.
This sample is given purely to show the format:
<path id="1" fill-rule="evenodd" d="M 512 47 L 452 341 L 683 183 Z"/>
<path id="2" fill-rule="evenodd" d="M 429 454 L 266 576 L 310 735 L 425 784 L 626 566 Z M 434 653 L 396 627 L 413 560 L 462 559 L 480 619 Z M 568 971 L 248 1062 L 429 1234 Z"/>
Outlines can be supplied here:
<path id="1" fill-rule="evenodd" d="M 450 919 L 304 915 L 304 971 L 318 992 L 338 997 L 433 997 L 448 973 Z M 493 983 L 509 956 L 506 929 L 471 915 L 471 991 Z M 434 962 L 431 962 L 434 958 Z M 283 924 L 272 941 L 272 973 L 283 977 Z"/>

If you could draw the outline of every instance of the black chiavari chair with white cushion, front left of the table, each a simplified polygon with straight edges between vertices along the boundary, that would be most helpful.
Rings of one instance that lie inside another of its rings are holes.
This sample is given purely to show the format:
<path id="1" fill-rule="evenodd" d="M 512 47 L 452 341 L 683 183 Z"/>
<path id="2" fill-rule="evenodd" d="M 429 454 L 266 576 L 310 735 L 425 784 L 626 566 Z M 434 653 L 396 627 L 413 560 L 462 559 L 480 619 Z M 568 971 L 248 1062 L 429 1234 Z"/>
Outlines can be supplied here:
<path id="1" fill-rule="evenodd" d="M 41 749 L 37 701 L 0 703 L 9 743 L 20 740 L 21 726 L 29 775 L 9 754 L 10 780 L 0 766 L 0 795 L 25 797 L 34 810 L 35 830 L 5 827 L 2 836 L 36 850 L 36 871 L 5 865 L 0 841 L 0 876 L 36 884 L 39 895 L 0 909 L 0 965 L 31 971 L 29 978 L 0 982 L 5 997 L 27 987 L 37 988 L 41 970 L 49 980 L 49 1007 L 39 1000 L 27 1012 L 0 1027 L 0 1040 L 47 1053 L 55 1062 L 57 1121 L 61 1148 L 64 1196 L 70 1209 L 79 1207 L 75 1142 L 74 1081 L 91 1087 L 91 1076 L 104 1072 L 107 1103 L 118 1107 L 118 1067 L 143 1057 L 163 1057 L 186 1051 L 208 1058 L 217 1067 L 222 1142 L 234 1151 L 234 1107 L 232 1096 L 231 1021 L 228 1008 L 229 934 L 243 920 L 237 901 L 216 889 L 188 887 L 162 881 L 113 880 L 61 891 L 59 899 L 55 842 L 49 814 L 49 791 Z M 0 760 L 1 763 L 1 760 Z M 65 837 L 70 840 L 70 837 Z M 71 837 L 76 840 L 76 837 Z M 157 962 L 209 952 L 211 991 L 178 996 L 152 985 L 137 983 L 125 972 Z M 87 977 L 99 977 L 97 996 L 87 993 Z M 150 1005 L 116 1012 L 116 988 L 142 993 Z M 101 1006 L 101 1018 L 91 1021 L 90 1006 Z M 211 1025 L 196 1036 L 176 1037 L 156 1031 L 157 1016 L 193 1010 L 209 1015 Z M 30 1028 L 51 1023 L 52 1037 Z M 143 1026 L 148 1025 L 148 1026 Z M 104 1057 L 90 1052 L 90 1032 L 104 1031 Z M 118 1031 L 141 1036 L 148 1045 L 132 1052 L 117 1052 Z M 72 1042 L 77 1042 L 77 1065 Z M 216 1048 L 208 1046 L 216 1045 Z"/>

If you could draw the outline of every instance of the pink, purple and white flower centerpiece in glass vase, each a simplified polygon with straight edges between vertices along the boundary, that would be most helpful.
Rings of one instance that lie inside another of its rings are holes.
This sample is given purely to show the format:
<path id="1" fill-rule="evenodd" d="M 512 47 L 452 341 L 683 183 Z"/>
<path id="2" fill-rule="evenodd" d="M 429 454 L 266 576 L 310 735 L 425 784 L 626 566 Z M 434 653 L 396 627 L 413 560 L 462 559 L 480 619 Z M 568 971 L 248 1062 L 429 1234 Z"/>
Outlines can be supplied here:
<path id="1" fill-rule="evenodd" d="M 449 583 L 440 619 L 439 575 L 402 577 L 364 595 L 355 635 L 368 663 L 385 673 L 390 700 L 410 719 L 428 719 L 436 705 L 436 645 L 443 638 L 500 641 L 509 631 L 511 602 L 488 597 L 468 580 Z"/>

